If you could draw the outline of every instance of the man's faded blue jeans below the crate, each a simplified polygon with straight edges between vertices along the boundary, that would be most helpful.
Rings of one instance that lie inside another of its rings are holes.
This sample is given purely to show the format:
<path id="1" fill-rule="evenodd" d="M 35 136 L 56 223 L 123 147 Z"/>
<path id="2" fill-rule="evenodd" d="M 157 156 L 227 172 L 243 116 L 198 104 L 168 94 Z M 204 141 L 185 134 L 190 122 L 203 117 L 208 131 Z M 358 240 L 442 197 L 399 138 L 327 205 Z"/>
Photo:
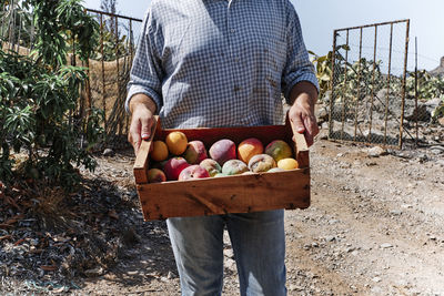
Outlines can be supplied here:
<path id="1" fill-rule="evenodd" d="M 221 295 L 226 225 L 242 296 L 281 296 L 285 288 L 283 210 L 167 221 L 182 295 Z"/>

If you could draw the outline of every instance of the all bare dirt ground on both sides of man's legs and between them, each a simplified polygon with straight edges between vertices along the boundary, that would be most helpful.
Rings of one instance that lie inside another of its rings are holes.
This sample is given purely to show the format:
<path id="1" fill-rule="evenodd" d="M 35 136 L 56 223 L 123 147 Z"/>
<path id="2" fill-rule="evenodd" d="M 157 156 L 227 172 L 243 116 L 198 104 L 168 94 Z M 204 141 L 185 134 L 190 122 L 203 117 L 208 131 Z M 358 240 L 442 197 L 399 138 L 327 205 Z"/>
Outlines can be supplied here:
<path id="1" fill-rule="evenodd" d="M 387 152 L 372 157 L 365 146 L 317 139 L 312 205 L 285 212 L 289 295 L 444 295 L 444 151 Z M 98 161 L 95 174 L 137 201 L 131 154 Z M 180 295 L 165 223 L 143 222 L 137 207 L 130 214 L 138 243 L 123 248 L 113 268 L 64 293 Z M 223 295 L 239 295 L 225 238 Z M 6 286 L 0 292 L 8 294 Z"/>

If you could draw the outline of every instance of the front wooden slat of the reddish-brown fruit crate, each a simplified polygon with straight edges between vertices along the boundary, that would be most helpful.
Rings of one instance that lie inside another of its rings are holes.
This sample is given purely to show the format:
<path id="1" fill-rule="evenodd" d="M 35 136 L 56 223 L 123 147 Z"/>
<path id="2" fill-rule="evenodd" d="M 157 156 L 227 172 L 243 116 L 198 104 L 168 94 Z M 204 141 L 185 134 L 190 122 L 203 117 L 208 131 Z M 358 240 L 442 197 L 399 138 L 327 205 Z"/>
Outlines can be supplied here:
<path id="1" fill-rule="evenodd" d="M 138 185 L 145 220 L 310 206 L 310 169 Z"/>

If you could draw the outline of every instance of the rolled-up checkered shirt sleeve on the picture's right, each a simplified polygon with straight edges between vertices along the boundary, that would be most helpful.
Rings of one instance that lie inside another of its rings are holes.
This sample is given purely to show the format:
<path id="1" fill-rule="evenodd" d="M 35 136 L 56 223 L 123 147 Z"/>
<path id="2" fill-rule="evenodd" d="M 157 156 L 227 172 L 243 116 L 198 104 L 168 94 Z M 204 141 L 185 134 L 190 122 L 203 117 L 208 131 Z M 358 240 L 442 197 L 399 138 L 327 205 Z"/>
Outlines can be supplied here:
<path id="1" fill-rule="evenodd" d="M 282 90 L 285 99 L 289 101 L 290 92 L 293 86 L 301 82 L 311 82 L 319 92 L 319 83 L 314 67 L 310 61 L 309 53 L 306 51 L 299 17 L 294 7 L 290 3 L 287 7 L 287 57 L 286 64 L 284 67 L 282 76 Z"/>

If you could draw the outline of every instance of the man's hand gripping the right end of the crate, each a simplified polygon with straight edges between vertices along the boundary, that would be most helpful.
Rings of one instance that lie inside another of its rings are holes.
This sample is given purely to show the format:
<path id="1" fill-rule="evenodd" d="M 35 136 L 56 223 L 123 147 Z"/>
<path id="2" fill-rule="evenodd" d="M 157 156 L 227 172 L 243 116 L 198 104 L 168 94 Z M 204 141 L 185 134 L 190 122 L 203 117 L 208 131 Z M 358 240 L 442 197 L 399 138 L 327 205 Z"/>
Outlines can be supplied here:
<path id="1" fill-rule="evenodd" d="M 316 116 L 314 115 L 314 104 L 317 100 L 317 90 L 310 82 L 300 82 L 291 91 L 293 102 L 289 119 L 296 126 L 299 133 L 303 133 L 306 144 L 311 146 L 314 136 L 319 133 Z"/>

